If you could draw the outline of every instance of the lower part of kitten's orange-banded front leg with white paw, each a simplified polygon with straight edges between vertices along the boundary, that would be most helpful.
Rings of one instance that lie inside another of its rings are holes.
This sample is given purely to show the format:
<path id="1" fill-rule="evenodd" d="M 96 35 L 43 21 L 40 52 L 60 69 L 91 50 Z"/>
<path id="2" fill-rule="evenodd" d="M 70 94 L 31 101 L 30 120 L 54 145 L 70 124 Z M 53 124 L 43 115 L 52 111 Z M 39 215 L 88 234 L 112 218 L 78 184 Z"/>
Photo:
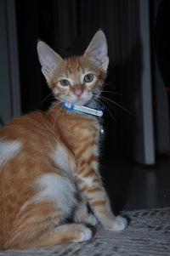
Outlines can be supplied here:
<path id="1" fill-rule="evenodd" d="M 111 204 L 101 183 L 97 170 L 87 168 L 77 174 L 77 185 L 86 196 L 88 203 L 99 222 L 106 230 L 124 230 L 127 220 L 121 216 L 115 216 L 111 211 Z"/>

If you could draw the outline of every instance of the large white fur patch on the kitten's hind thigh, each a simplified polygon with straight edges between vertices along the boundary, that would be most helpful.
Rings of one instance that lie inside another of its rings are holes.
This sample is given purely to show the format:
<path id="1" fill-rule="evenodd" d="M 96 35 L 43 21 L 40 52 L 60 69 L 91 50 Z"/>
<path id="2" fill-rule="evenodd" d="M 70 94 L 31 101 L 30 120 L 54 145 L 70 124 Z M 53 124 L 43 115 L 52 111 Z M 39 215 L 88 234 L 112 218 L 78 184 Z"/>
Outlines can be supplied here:
<path id="1" fill-rule="evenodd" d="M 62 177 L 58 174 L 44 174 L 37 179 L 36 189 L 41 189 L 36 196 L 27 201 L 20 210 L 22 211 L 27 205 L 35 202 L 49 201 L 55 202 L 62 211 L 62 216 L 71 213 L 71 209 L 76 205 L 76 186 L 69 178 Z"/>

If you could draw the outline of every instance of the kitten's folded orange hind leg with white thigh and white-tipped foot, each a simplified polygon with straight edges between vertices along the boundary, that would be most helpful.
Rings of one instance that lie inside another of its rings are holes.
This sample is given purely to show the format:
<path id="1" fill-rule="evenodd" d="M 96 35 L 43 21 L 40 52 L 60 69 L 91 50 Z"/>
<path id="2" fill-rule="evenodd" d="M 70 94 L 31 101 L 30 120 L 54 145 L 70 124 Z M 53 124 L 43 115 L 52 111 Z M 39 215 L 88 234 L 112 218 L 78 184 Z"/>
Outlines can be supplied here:
<path id="1" fill-rule="evenodd" d="M 82 242 L 92 236 L 85 225 L 61 225 L 77 206 L 76 186 L 68 177 L 44 174 L 38 192 L 24 203 L 14 219 L 3 248 L 44 247 Z"/>

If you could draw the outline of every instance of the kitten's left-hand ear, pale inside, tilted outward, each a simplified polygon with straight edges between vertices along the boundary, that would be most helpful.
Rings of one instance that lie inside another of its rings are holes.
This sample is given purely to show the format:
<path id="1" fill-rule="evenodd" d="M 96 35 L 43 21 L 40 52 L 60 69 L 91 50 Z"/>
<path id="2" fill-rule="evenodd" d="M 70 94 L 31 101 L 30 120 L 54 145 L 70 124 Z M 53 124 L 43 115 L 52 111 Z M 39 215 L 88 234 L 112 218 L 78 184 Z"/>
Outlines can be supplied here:
<path id="1" fill-rule="evenodd" d="M 42 65 L 42 73 L 49 82 L 50 78 L 53 76 L 54 70 L 63 59 L 42 41 L 37 43 L 37 54 Z"/>

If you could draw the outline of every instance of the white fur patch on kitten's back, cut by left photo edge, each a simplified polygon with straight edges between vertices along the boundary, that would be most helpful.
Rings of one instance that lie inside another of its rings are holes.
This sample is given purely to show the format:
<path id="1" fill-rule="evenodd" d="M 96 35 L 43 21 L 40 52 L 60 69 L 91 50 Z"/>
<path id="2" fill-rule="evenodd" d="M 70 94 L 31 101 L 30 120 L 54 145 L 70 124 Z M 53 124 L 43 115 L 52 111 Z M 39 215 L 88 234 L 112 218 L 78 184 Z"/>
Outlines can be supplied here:
<path id="1" fill-rule="evenodd" d="M 22 143 L 19 141 L 0 140 L 0 166 L 16 156 L 19 153 L 21 146 Z"/>

